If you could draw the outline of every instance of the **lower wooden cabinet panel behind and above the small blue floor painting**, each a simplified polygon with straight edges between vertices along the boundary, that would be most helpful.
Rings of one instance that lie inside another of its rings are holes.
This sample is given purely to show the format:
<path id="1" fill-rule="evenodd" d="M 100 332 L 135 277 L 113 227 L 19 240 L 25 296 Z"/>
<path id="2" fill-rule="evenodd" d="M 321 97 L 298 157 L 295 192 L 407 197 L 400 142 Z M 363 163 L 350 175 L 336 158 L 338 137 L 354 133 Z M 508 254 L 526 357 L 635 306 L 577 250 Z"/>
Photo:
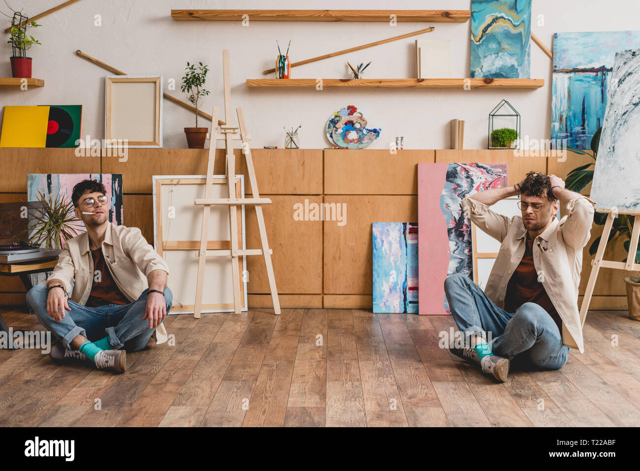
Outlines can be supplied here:
<path id="1" fill-rule="evenodd" d="M 344 225 L 324 221 L 324 293 L 372 293 L 371 223 L 416 222 L 417 196 L 325 196 L 346 205 Z"/>

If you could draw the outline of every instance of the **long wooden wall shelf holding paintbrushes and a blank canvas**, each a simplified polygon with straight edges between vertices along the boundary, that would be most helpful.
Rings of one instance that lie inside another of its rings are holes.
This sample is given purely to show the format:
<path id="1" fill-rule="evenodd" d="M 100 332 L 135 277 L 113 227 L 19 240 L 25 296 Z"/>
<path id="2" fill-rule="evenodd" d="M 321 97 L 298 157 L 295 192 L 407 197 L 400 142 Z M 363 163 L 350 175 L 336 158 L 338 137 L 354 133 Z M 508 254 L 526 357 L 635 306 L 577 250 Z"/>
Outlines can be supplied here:
<path id="1" fill-rule="evenodd" d="M 544 79 L 322 79 L 324 87 L 371 88 L 540 88 Z M 316 88 L 317 79 L 247 79 L 248 87 Z"/>

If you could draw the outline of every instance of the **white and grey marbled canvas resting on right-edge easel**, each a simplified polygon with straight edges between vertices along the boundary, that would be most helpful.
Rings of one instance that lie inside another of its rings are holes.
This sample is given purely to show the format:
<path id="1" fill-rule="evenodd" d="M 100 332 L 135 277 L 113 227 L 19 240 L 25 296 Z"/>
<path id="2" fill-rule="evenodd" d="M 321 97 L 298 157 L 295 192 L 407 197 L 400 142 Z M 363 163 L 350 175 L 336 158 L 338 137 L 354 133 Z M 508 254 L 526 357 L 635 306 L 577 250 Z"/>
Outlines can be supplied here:
<path id="1" fill-rule="evenodd" d="M 613 63 L 591 199 L 596 209 L 640 210 L 640 49 Z"/>

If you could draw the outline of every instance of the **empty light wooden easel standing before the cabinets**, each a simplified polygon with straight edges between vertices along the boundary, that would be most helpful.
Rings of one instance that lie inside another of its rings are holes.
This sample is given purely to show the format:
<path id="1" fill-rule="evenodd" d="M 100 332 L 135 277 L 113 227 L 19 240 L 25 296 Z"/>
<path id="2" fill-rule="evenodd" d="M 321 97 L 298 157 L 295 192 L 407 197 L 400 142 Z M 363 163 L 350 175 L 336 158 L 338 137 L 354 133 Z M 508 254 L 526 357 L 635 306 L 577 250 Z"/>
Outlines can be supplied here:
<path id="1" fill-rule="evenodd" d="M 262 215 L 262 204 L 269 204 L 269 198 L 260 198 L 258 192 L 258 183 L 255 179 L 255 170 L 253 169 L 253 157 L 251 156 L 251 148 L 249 146 L 248 133 L 244 125 L 244 115 L 241 108 L 237 108 L 238 126 L 232 126 L 231 123 L 231 88 L 229 84 L 229 51 L 222 51 L 223 76 L 225 87 L 225 125 L 220 126 L 218 132 L 218 107 L 213 109 L 211 120 L 211 141 L 209 143 L 209 161 L 207 162 L 207 181 L 205 183 L 204 198 L 196 199 L 196 205 L 202 205 L 202 232 L 200 235 L 200 251 L 198 251 L 198 282 L 196 283 L 196 299 L 194 308 L 194 317 L 200 317 L 202 310 L 202 289 L 204 282 L 204 267 L 207 257 L 231 257 L 232 280 L 234 283 L 234 310 L 236 314 L 241 311 L 240 298 L 240 274 L 238 257 L 241 255 L 264 255 L 264 264 L 267 267 L 267 276 L 269 278 L 269 287 L 271 289 L 271 299 L 273 299 L 273 310 L 275 314 L 280 314 L 280 301 L 278 301 L 278 291 L 276 290 L 276 280 L 273 275 L 273 264 L 271 264 L 271 253 L 273 250 L 269 248 L 267 241 L 267 231 L 264 225 L 264 216 Z M 226 157 L 225 176 L 227 177 L 228 198 L 211 198 L 214 173 L 214 161 L 216 159 L 216 142 L 218 140 L 225 141 Z M 252 198 L 236 198 L 235 180 L 236 180 L 236 159 L 234 156 L 234 140 L 241 140 L 243 145 L 243 155 L 246 159 L 246 168 L 251 183 Z M 207 250 L 207 241 L 209 240 L 209 213 L 211 205 L 228 205 L 229 207 L 229 227 L 231 231 L 231 250 Z M 258 218 L 258 227 L 260 230 L 260 240 L 262 241 L 261 249 L 245 249 L 238 248 L 237 241 L 237 206 L 250 204 L 255 205 L 255 215 Z"/>

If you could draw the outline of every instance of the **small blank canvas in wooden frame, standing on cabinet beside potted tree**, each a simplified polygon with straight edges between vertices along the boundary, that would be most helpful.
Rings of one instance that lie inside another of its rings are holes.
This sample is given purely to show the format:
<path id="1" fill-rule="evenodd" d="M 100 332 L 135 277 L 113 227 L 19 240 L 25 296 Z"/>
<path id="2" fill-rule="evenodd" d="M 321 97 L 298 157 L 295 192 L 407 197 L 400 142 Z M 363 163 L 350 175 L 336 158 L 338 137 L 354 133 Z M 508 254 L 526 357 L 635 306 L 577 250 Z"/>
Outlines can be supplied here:
<path id="1" fill-rule="evenodd" d="M 105 147 L 162 147 L 162 90 L 159 76 L 106 76 Z"/>

